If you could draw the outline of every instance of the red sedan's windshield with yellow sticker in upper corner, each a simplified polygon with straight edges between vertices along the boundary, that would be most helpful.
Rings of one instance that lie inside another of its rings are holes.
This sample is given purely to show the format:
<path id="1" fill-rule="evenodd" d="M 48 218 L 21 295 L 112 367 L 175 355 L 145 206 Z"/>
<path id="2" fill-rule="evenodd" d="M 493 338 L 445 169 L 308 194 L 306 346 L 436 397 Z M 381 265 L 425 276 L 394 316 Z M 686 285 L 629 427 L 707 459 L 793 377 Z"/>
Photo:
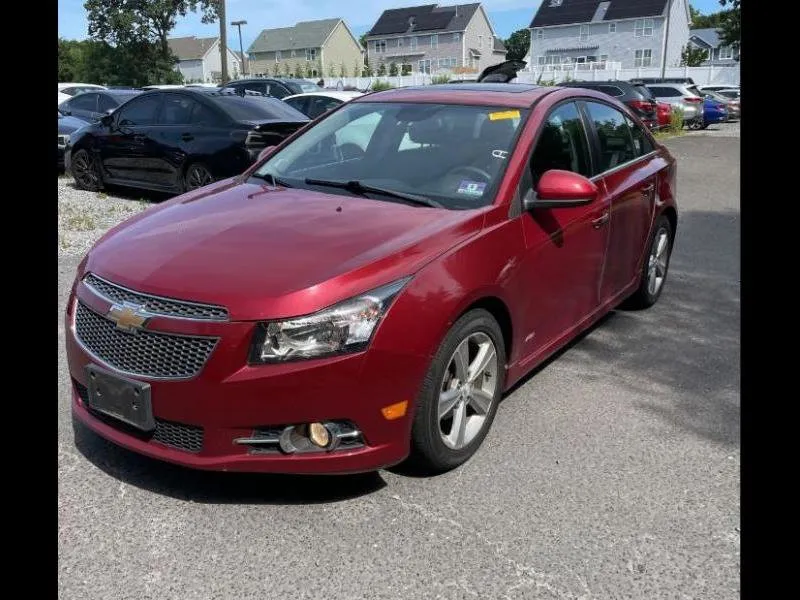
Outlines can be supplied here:
<path id="1" fill-rule="evenodd" d="M 270 156 L 255 175 L 332 194 L 403 201 L 399 193 L 449 209 L 478 208 L 492 202 L 527 115 L 506 107 L 350 103 Z M 334 187 L 343 183 L 350 185 Z"/>

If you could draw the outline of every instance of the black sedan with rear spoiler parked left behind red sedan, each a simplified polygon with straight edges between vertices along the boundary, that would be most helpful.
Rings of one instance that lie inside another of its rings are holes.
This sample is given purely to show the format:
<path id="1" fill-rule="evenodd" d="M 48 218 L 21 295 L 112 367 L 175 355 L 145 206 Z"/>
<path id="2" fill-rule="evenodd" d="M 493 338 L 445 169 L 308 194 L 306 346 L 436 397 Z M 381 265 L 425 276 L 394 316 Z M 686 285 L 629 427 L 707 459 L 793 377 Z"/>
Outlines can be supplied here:
<path id="1" fill-rule="evenodd" d="M 144 92 L 73 135 L 66 167 L 85 190 L 181 193 L 238 175 L 308 122 L 275 98 L 218 88 Z"/>

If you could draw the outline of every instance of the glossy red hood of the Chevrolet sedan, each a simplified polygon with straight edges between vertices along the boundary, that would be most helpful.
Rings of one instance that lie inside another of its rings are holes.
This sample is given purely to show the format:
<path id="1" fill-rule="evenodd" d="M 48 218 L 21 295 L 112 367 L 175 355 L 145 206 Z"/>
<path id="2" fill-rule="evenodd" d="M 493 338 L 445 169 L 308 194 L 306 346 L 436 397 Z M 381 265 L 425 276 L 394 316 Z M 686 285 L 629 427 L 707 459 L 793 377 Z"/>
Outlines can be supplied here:
<path id="1" fill-rule="evenodd" d="M 226 180 L 118 225 L 84 272 L 221 304 L 233 320 L 296 316 L 415 273 L 477 233 L 483 212 Z"/>

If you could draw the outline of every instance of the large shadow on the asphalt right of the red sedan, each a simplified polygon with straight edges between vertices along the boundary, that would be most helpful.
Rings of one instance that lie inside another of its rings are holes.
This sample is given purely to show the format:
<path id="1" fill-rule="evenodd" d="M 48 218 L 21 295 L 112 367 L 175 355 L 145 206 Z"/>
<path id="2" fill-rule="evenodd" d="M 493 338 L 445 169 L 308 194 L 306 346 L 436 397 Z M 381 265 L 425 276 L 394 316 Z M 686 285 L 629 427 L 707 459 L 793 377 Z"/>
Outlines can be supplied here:
<path id="1" fill-rule="evenodd" d="M 641 398 L 635 408 L 667 425 L 661 434 L 678 430 L 738 448 L 739 319 L 739 213 L 684 212 L 659 302 L 606 315 L 517 383 L 503 402 L 535 385 L 545 369 L 584 381 L 613 377 Z"/>

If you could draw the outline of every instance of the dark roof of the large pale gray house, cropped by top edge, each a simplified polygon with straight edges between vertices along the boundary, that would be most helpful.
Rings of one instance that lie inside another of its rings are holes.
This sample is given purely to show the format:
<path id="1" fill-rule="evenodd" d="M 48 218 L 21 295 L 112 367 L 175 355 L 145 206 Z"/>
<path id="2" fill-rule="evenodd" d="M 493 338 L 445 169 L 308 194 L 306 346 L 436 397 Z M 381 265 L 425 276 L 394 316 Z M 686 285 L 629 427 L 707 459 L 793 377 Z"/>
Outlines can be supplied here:
<path id="1" fill-rule="evenodd" d="M 542 0 L 530 27 L 656 17 L 666 6 L 667 0 Z"/>

